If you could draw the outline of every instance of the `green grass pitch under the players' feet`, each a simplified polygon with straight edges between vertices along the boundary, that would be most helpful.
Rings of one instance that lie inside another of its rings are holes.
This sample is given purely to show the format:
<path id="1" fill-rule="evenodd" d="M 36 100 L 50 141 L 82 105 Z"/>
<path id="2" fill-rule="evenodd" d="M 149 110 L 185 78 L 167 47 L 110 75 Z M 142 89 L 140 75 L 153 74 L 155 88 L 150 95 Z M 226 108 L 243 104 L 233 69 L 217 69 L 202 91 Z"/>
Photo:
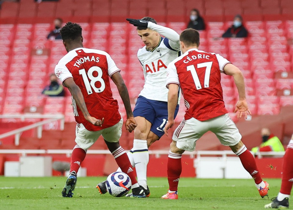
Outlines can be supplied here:
<path id="1" fill-rule="evenodd" d="M 269 198 L 262 199 L 253 180 L 181 178 L 179 199 L 162 200 L 167 192 L 167 178 L 148 178 L 149 198 L 114 198 L 100 195 L 96 184 L 105 177 L 80 177 L 73 198 L 63 198 L 61 190 L 66 177 L 0 177 L 1 210 L 99 210 L 99 209 L 264 209 L 280 190 L 280 179 L 266 179 Z"/>

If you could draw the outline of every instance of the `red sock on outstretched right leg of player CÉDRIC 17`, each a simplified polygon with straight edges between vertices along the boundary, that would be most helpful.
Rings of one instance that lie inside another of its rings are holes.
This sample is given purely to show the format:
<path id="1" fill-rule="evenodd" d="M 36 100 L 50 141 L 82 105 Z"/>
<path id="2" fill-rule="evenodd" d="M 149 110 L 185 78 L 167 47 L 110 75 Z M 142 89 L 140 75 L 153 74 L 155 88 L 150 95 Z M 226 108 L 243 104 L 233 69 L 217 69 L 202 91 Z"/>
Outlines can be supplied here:
<path id="1" fill-rule="evenodd" d="M 254 182 L 256 184 L 261 183 L 262 177 L 260 176 L 259 169 L 256 166 L 255 159 L 250 151 L 247 150 L 245 145 L 243 145 L 239 151 L 235 152 L 235 154 L 240 158 L 244 169 L 247 170 L 248 173 L 252 176 Z"/>

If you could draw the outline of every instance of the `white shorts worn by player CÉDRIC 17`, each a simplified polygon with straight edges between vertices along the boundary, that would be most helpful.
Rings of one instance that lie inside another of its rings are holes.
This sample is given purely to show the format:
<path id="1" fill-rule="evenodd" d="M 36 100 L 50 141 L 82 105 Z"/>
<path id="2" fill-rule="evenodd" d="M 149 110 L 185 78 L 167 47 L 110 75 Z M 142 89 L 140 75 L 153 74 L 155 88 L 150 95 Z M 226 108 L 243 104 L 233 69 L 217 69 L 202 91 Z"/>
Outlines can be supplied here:
<path id="1" fill-rule="evenodd" d="M 242 137 L 233 120 L 225 114 L 205 121 L 183 119 L 175 129 L 172 139 L 177 141 L 177 148 L 194 151 L 196 141 L 208 131 L 215 133 L 224 146 L 234 146 Z"/>

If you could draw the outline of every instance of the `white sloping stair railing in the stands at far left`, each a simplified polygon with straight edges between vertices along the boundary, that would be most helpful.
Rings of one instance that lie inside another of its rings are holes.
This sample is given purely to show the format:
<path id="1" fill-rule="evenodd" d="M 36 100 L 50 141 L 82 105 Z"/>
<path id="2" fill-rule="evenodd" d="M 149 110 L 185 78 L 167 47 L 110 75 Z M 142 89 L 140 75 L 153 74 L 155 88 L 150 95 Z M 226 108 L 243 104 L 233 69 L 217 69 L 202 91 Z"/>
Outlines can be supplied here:
<path id="1" fill-rule="evenodd" d="M 6 133 L 0 134 L 0 139 L 6 138 L 9 136 L 14 135 L 14 144 L 16 146 L 19 145 L 20 135 L 22 132 L 31 130 L 34 128 L 37 128 L 37 137 L 40 139 L 42 138 L 42 132 L 43 132 L 43 125 L 47 123 L 51 123 L 56 120 L 61 120 L 60 129 L 64 130 L 64 115 L 62 114 L 55 114 L 55 115 L 49 115 L 49 114 L 15 114 L 15 115 L 0 115 L 0 119 L 21 119 L 24 121 L 24 119 L 46 119 L 41 122 L 33 123 L 28 126 L 24 126 L 21 128 L 17 128 L 15 130 L 11 130 Z"/>

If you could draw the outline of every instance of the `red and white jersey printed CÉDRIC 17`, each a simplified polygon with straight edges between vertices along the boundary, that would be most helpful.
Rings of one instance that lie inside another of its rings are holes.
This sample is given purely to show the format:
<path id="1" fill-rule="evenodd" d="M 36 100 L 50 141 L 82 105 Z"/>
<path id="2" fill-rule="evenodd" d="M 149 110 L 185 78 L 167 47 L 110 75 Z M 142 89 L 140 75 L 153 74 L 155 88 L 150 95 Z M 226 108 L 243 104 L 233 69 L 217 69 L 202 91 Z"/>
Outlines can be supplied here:
<path id="1" fill-rule="evenodd" d="M 227 63 L 218 54 L 190 49 L 168 65 L 167 87 L 171 83 L 180 86 L 185 119 L 204 121 L 228 113 L 221 86 L 221 72 Z"/>

